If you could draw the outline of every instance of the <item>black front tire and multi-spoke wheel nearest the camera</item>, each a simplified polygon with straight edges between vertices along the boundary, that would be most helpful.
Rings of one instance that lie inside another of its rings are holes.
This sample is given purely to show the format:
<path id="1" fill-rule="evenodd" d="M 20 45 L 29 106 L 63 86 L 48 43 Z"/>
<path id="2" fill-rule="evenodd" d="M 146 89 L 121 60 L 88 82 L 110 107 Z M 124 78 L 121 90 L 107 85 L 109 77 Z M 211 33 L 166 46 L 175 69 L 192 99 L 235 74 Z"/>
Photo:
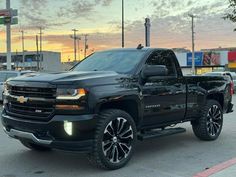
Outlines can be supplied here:
<path id="1" fill-rule="evenodd" d="M 125 166 L 137 141 L 136 125 L 132 117 L 117 109 L 102 111 L 98 117 L 93 152 L 89 161 L 99 168 L 116 170 Z"/>

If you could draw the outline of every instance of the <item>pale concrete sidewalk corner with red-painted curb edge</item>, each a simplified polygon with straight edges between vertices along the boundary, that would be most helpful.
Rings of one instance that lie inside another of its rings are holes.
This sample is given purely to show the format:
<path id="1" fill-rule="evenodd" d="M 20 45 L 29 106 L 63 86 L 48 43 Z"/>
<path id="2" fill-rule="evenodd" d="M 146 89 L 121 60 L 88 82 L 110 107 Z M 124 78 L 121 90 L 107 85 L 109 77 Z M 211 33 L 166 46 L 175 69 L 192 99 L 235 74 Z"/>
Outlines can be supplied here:
<path id="1" fill-rule="evenodd" d="M 236 158 L 218 164 L 210 169 L 200 172 L 193 177 L 235 177 Z"/>

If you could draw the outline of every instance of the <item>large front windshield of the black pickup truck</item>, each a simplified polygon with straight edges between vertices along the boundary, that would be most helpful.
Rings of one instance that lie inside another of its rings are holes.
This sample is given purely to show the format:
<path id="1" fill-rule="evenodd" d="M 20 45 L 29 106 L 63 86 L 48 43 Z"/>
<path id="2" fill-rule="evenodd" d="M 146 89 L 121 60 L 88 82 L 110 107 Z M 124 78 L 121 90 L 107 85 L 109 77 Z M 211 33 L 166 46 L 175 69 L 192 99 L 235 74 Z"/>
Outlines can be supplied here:
<path id="1" fill-rule="evenodd" d="M 115 71 L 131 73 L 142 60 L 145 51 L 105 51 L 97 52 L 79 63 L 74 71 Z"/>

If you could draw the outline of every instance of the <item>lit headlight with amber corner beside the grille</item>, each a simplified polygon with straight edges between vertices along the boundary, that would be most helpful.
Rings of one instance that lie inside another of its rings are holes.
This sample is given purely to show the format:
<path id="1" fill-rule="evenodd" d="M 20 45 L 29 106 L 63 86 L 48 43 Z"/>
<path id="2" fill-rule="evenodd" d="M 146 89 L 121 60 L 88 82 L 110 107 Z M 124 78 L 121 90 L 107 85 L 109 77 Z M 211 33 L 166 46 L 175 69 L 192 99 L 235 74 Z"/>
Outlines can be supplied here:
<path id="1" fill-rule="evenodd" d="M 58 100 L 78 100 L 85 95 L 85 89 L 57 89 Z"/>

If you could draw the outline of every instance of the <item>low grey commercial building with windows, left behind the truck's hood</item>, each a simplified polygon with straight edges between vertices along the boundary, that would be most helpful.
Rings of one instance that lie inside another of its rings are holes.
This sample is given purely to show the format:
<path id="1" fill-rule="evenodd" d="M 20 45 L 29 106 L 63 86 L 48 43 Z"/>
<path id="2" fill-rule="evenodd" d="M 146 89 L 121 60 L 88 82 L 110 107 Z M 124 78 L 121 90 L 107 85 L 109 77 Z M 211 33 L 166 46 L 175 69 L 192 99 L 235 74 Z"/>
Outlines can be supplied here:
<path id="1" fill-rule="evenodd" d="M 24 62 L 23 62 L 24 58 Z M 6 69 L 6 53 L 0 53 L 0 70 Z M 16 70 L 33 70 L 43 72 L 61 71 L 61 53 L 43 51 L 42 57 L 35 51 L 12 53 L 12 68 Z"/>

